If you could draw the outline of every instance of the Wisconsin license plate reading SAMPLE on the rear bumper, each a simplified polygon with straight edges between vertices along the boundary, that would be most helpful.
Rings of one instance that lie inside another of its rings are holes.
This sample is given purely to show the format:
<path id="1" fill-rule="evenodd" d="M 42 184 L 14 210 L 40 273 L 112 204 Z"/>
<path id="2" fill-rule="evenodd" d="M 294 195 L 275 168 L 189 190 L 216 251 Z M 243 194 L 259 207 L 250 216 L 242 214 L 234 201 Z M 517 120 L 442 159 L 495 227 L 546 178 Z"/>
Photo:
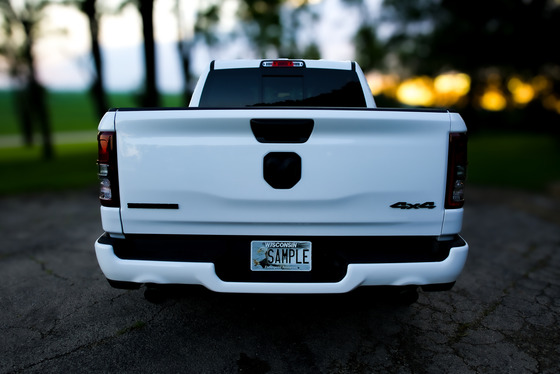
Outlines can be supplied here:
<path id="1" fill-rule="evenodd" d="M 311 242 L 251 242 L 253 271 L 311 271 Z"/>

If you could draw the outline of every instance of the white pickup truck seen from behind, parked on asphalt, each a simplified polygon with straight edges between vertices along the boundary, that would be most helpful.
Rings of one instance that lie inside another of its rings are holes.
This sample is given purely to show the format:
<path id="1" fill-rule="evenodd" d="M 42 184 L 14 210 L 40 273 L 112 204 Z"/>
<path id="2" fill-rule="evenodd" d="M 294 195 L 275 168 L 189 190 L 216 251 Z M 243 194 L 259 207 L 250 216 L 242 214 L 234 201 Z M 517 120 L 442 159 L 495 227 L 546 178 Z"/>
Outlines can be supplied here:
<path id="1" fill-rule="evenodd" d="M 438 291 L 467 259 L 464 121 L 376 108 L 354 62 L 214 61 L 189 108 L 110 110 L 98 143 L 117 288 Z"/>

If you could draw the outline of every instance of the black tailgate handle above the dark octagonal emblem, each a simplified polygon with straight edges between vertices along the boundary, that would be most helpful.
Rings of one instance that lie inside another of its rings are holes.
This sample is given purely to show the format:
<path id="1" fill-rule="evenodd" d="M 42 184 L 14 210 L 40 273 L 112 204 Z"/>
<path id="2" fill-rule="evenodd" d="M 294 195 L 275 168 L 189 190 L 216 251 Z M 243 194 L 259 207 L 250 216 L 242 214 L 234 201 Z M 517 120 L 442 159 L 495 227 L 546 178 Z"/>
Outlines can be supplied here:
<path id="1" fill-rule="evenodd" d="M 311 136 L 312 119 L 252 119 L 251 130 L 259 143 L 305 143 Z"/>

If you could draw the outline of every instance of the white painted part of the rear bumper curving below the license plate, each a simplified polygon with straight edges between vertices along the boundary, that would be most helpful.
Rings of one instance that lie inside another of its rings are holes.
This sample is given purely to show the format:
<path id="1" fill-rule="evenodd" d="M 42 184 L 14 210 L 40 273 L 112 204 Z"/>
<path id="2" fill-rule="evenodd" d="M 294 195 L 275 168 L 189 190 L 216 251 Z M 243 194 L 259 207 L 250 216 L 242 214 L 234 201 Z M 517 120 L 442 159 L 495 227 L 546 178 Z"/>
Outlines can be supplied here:
<path id="1" fill-rule="evenodd" d="M 446 257 L 436 261 L 348 263 L 337 281 L 231 281 L 220 277 L 213 262 L 125 259 L 115 254 L 116 243 L 107 235 L 95 243 L 99 266 L 117 282 L 202 285 L 216 292 L 314 294 L 345 293 L 359 286 L 439 285 L 457 280 L 463 270 L 468 244 L 457 236 Z M 220 265 L 218 264 L 218 267 Z M 247 262 L 247 268 L 249 268 Z M 236 279 L 235 277 L 232 279 Z M 245 278 L 239 278 L 245 279 Z"/>

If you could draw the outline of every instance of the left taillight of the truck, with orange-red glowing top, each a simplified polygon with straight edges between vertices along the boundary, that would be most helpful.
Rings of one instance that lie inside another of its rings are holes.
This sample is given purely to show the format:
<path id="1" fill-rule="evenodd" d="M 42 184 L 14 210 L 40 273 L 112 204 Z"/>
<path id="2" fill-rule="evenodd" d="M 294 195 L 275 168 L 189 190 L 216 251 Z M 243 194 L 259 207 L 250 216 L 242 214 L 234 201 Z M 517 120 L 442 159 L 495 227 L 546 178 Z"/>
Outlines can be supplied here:
<path id="1" fill-rule="evenodd" d="M 117 134 L 103 131 L 97 135 L 99 201 L 103 206 L 118 207 Z"/>

